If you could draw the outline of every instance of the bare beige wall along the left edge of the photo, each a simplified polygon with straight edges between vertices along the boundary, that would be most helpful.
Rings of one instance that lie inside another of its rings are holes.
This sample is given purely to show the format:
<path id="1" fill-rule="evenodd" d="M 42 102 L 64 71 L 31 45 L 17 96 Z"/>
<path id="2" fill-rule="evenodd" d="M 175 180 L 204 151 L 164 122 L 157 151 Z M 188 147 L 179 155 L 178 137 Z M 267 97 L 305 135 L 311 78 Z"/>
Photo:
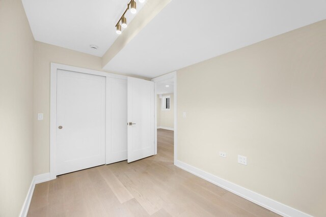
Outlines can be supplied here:
<path id="1" fill-rule="evenodd" d="M 0 216 L 18 216 L 33 179 L 34 38 L 21 1 L 0 1 Z"/>

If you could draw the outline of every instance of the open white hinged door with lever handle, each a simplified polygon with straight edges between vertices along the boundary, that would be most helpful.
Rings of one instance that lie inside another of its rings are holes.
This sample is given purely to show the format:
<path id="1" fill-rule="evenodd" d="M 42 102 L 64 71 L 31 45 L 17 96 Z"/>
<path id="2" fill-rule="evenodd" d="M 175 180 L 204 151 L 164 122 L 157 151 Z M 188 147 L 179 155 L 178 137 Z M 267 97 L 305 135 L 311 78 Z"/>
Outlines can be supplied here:
<path id="1" fill-rule="evenodd" d="M 154 82 L 128 77 L 128 163 L 154 155 Z"/>

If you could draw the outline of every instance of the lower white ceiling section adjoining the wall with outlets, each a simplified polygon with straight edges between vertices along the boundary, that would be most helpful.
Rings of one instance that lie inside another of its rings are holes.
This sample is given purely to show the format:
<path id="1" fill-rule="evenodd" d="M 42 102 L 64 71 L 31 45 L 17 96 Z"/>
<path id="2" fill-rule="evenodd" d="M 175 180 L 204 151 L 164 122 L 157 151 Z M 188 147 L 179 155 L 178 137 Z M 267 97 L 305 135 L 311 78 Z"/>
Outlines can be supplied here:
<path id="1" fill-rule="evenodd" d="M 326 0 L 174 0 L 104 70 L 153 78 L 326 19 Z"/>

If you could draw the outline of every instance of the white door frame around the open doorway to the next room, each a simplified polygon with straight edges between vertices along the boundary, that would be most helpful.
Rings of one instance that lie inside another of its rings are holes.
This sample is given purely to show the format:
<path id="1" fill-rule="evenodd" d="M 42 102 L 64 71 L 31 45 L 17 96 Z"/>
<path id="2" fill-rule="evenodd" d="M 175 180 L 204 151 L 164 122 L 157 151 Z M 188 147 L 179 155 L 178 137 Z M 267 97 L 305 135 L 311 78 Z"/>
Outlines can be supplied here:
<path id="1" fill-rule="evenodd" d="M 154 81 L 154 96 L 155 96 L 155 134 L 154 134 L 154 139 L 155 139 L 155 154 L 157 154 L 157 83 L 161 82 L 161 81 L 165 81 L 165 80 L 169 80 L 169 79 L 173 79 L 173 96 L 174 96 L 174 100 L 173 100 L 173 106 L 174 106 L 174 138 L 173 138 L 173 143 L 174 143 L 174 165 L 177 162 L 177 71 L 175 72 L 171 72 L 162 76 L 158 76 L 156 78 L 151 79 L 151 81 Z"/>

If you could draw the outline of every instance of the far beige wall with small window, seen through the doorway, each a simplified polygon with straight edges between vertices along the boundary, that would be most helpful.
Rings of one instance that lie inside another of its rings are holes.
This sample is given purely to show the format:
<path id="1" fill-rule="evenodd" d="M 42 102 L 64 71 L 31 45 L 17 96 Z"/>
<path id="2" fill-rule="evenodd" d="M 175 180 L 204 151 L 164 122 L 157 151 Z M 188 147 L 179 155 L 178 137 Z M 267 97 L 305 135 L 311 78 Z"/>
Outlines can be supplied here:
<path id="1" fill-rule="evenodd" d="M 162 99 L 158 98 L 157 95 L 157 127 L 166 127 L 166 128 L 174 128 L 174 97 L 173 94 L 163 94 L 164 96 L 170 96 L 170 110 L 162 111 Z"/>

